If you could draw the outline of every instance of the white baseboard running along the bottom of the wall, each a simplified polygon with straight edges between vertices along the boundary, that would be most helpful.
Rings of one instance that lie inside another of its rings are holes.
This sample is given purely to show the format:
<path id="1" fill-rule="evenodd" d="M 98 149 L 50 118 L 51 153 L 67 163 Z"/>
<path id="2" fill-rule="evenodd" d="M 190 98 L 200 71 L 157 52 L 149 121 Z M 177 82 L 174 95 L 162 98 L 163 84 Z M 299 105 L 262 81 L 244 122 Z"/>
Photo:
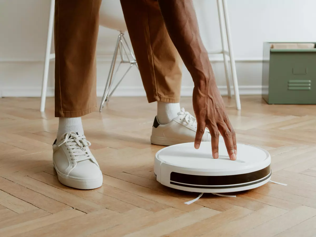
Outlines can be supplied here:
<path id="1" fill-rule="evenodd" d="M 227 95 L 227 87 L 218 87 L 222 95 Z M 262 86 L 239 86 L 240 95 L 258 95 L 262 94 Z M 97 87 L 97 96 L 102 96 L 104 87 Z M 182 96 L 192 96 L 193 87 L 183 86 L 181 88 Z M 232 94 L 234 89 L 231 88 Z M 0 88 L 0 97 L 40 97 L 41 87 L 30 86 L 30 87 L 19 87 L 19 86 L 5 86 Z M 54 96 L 54 88 L 47 88 L 47 97 Z M 118 87 L 113 96 L 146 96 L 145 90 L 142 86 L 121 86 Z"/>

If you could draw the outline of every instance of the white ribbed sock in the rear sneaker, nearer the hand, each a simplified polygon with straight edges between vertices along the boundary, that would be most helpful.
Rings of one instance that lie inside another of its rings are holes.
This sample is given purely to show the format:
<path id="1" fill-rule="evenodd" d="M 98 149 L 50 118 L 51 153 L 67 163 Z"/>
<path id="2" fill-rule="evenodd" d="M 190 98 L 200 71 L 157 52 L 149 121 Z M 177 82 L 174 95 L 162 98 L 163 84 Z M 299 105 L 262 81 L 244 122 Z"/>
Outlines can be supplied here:
<path id="1" fill-rule="evenodd" d="M 160 124 L 168 124 L 181 111 L 179 103 L 157 102 L 157 119 Z"/>

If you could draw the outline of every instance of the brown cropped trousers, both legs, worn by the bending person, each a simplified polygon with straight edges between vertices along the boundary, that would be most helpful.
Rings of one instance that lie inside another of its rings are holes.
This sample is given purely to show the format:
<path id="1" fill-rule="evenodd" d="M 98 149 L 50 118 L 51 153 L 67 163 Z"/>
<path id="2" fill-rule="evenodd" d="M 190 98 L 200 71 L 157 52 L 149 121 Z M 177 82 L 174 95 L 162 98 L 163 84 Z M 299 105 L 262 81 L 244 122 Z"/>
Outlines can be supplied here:
<path id="1" fill-rule="evenodd" d="M 56 0 L 55 116 L 96 108 L 95 49 L 102 0 Z M 148 102 L 179 102 L 182 60 L 155 0 L 121 0 Z"/>

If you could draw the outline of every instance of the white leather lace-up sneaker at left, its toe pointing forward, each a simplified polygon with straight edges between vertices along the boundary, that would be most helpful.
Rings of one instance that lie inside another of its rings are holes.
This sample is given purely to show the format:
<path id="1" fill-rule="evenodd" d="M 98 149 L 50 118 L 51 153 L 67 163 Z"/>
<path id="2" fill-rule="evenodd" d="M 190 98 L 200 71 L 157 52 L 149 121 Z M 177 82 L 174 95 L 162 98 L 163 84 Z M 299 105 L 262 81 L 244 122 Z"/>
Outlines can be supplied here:
<path id="1" fill-rule="evenodd" d="M 78 189 L 94 189 L 102 185 L 103 177 L 85 136 L 65 133 L 53 144 L 53 163 L 59 181 Z"/>

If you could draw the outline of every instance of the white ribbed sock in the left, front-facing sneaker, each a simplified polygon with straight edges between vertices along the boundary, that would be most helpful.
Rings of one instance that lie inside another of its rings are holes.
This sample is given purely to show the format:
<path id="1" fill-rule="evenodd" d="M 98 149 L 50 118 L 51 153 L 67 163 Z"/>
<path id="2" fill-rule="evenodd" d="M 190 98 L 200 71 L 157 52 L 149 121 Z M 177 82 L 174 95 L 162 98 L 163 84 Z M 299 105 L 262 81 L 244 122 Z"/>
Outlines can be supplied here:
<path id="1" fill-rule="evenodd" d="M 59 118 L 57 140 L 66 132 L 77 132 L 79 135 L 83 135 L 81 117 Z"/>

